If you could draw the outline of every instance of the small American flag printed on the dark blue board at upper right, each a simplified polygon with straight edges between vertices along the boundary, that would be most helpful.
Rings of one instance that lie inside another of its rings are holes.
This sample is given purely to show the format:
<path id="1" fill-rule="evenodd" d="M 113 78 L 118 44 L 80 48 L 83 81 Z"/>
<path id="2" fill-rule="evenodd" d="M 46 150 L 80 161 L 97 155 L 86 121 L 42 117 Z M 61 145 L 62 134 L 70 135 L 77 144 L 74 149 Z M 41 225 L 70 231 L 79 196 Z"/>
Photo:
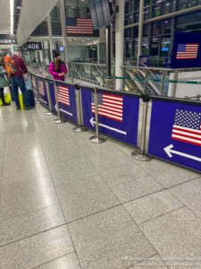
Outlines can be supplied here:
<path id="1" fill-rule="evenodd" d="M 179 44 L 177 60 L 197 59 L 199 44 Z"/>

